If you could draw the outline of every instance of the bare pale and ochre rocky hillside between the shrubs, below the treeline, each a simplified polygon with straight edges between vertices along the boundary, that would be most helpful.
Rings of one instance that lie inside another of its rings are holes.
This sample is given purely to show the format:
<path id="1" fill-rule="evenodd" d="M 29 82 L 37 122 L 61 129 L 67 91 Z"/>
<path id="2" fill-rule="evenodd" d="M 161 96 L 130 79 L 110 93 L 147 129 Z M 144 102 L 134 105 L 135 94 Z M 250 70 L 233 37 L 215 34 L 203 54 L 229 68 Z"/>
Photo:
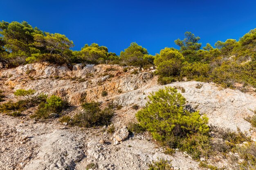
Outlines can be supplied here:
<path id="1" fill-rule="evenodd" d="M 117 65 L 76 64 L 72 68 L 48 63 L 27 64 L 17 68 L 0 70 L 0 88 L 5 100 L 17 100 L 17 89 L 33 89 L 36 93 L 55 94 L 66 99 L 71 107 L 66 115 L 81 110 L 82 101 L 101 102 L 102 106 L 122 106 L 115 111 L 109 127 L 79 128 L 61 124 L 56 119 L 35 121 L 31 115 L 36 108 L 26 110 L 22 117 L 0 114 L 0 169 L 3 170 L 147 170 L 148 164 L 159 159 L 171 161 L 174 169 L 200 169 L 199 162 L 186 153 L 165 154 L 150 134 L 129 135 L 124 127 L 136 121 L 137 110 L 143 107 L 147 96 L 164 88 L 157 84 L 153 68 L 139 70 Z M 253 115 L 256 97 L 238 90 L 222 89 L 212 83 L 174 82 L 166 86 L 176 87 L 187 99 L 188 107 L 200 110 L 209 117 L 209 124 L 247 132 L 256 141 L 256 131 L 245 117 Z M 182 91 L 181 91 L 182 89 Z M 103 91 L 107 94 L 102 96 Z M 212 164 L 229 166 L 228 161 L 216 155 Z"/>

